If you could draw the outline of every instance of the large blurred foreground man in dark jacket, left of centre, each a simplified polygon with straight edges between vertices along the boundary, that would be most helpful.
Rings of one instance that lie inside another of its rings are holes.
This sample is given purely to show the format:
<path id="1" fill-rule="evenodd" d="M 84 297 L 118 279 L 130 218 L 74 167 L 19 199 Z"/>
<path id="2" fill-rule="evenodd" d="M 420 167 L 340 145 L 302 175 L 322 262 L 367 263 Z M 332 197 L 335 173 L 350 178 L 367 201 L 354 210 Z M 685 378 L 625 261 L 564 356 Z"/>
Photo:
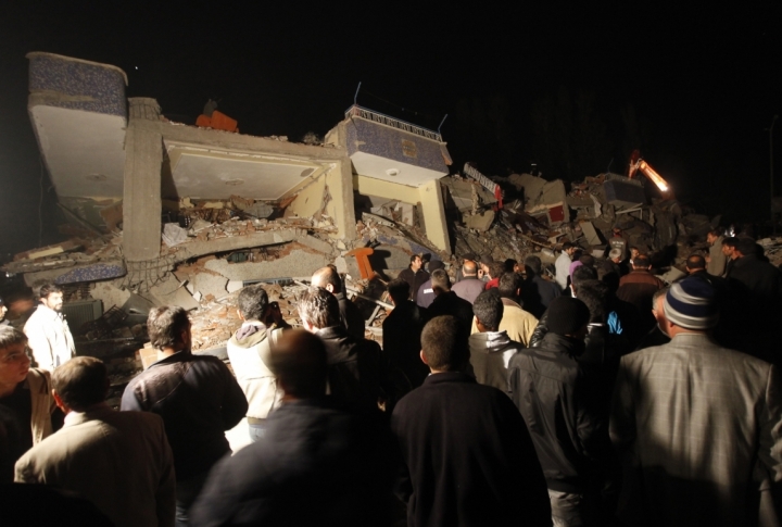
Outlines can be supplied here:
<path id="1" fill-rule="evenodd" d="M 285 389 L 282 406 L 263 441 L 214 467 L 190 525 L 388 526 L 388 428 L 324 397 L 328 365 L 317 337 L 286 331 L 269 365 Z"/>

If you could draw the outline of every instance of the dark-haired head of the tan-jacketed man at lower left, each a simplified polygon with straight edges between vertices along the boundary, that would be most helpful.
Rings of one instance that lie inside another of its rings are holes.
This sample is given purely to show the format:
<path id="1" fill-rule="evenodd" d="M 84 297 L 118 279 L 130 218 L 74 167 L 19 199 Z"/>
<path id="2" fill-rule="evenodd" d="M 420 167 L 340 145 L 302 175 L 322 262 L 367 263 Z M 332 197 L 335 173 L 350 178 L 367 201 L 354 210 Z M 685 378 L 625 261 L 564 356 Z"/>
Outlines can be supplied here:
<path id="1" fill-rule="evenodd" d="M 109 374 L 100 359 L 76 356 L 54 368 L 52 374 L 52 394 L 65 413 L 84 412 L 100 404 L 108 392 Z"/>

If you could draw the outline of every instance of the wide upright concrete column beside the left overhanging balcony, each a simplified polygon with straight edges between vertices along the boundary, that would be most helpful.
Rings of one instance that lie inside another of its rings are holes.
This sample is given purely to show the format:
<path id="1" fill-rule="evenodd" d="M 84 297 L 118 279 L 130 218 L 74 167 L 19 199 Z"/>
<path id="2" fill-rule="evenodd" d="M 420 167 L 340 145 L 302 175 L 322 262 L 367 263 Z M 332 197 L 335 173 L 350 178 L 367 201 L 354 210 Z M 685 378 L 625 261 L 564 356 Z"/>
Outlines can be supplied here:
<path id="1" fill-rule="evenodd" d="M 129 262 L 160 256 L 163 136 L 154 99 L 131 98 L 125 135 L 123 251 Z"/>

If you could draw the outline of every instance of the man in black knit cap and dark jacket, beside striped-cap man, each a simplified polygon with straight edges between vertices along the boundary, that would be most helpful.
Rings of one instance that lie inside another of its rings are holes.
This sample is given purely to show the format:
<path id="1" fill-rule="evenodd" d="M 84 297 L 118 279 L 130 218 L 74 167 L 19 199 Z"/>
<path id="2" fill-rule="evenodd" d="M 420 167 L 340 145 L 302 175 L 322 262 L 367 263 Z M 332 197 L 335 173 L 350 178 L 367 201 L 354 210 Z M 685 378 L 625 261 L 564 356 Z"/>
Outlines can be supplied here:
<path id="1" fill-rule="evenodd" d="M 597 476 L 610 452 L 607 418 L 597 416 L 591 403 L 593 387 L 576 361 L 583 351 L 589 317 L 580 300 L 555 299 L 541 346 L 510 359 L 509 394 L 529 425 L 548 486 L 554 525 L 596 522 L 598 500 L 592 487 L 602 484 Z"/>

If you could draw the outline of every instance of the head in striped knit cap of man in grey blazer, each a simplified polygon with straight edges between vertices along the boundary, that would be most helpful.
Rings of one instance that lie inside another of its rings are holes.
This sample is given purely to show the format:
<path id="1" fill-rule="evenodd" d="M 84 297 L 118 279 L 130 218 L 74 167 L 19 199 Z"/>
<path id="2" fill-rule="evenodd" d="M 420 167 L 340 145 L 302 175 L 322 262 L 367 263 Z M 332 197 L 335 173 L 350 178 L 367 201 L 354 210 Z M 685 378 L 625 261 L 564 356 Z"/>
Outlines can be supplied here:
<path id="1" fill-rule="evenodd" d="M 684 278 L 673 284 L 663 305 L 664 332 L 671 338 L 679 332 L 706 332 L 719 318 L 716 298 L 714 287 L 705 280 Z"/>

